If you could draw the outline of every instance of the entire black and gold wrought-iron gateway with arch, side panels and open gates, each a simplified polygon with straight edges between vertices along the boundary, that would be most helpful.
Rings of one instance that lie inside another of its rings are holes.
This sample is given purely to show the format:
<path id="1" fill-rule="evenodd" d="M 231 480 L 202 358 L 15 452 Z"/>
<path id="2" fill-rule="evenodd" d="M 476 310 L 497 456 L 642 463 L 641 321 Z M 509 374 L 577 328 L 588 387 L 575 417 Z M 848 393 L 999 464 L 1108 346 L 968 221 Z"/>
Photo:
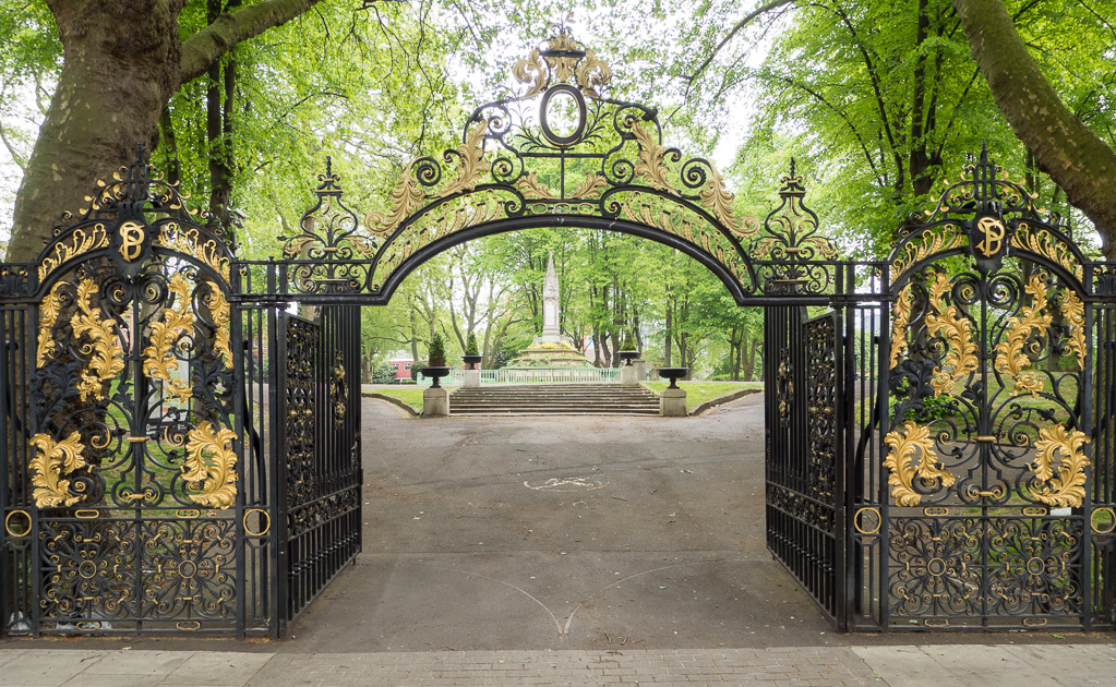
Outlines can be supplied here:
<path id="1" fill-rule="evenodd" d="M 1113 626 L 1116 265 L 987 152 L 888 261 L 839 260 L 793 163 L 738 217 L 567 30 L 513 71 L 386 209 L 327 163 L 279 260 L 141 154 L 0 265 L 0 633 L 285 632 L 362 545 L 358 306 L 545 225 L 671 245 L 766 308 L 768 546 L 836 627 Z"/>

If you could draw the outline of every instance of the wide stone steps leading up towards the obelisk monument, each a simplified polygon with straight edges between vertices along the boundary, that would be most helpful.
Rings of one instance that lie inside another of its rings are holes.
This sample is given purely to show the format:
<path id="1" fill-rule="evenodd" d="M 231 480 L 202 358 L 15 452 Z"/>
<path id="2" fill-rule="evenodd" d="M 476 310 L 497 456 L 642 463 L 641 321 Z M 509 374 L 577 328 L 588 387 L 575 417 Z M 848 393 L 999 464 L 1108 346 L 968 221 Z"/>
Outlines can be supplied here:
<path id="1" fill-rule="evenodd" d="M 450 415 L 658 415 L 658 396 L 618 384 L 539 384 L 458 388 Z"/>

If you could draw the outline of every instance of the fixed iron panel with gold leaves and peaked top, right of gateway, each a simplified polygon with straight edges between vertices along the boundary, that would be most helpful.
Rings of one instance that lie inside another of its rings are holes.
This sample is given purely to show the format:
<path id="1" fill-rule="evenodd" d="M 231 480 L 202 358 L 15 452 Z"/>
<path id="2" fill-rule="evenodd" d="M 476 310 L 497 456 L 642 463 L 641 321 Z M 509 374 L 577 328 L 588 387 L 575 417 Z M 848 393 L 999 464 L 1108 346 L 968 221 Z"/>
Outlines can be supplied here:
<path id="1" fill-rule="evenodd" d="M 893 252 L 895 615 L 1081 612 L 1084 259 L 1040 212 L 985 151 Z"/>

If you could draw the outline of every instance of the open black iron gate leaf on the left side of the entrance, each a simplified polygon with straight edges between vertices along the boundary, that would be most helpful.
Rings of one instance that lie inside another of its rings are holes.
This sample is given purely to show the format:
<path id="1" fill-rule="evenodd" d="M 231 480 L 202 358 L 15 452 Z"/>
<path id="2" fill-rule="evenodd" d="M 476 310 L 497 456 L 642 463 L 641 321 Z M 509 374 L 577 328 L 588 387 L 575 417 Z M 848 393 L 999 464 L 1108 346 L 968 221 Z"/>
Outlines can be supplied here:
<path id="1" fill-rule="evenodd" d="M 279 315 L 280 633 L 360 551 L 359 332 L 352 306 Z"/>

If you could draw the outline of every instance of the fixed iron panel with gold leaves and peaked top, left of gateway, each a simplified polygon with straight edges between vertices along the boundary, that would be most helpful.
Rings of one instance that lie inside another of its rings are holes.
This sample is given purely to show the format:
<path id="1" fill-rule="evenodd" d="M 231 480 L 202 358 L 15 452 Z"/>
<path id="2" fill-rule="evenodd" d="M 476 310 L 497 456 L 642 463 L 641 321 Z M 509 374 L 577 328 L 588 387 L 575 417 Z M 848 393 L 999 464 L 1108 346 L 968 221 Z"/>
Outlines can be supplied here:
<path id="1" fill-rule="evenodd" d="M 35 274 L 39 612 L 83 629 L 223 621 L 239 480 L 230 254 L 142 152 L 88 201 Z"/>

